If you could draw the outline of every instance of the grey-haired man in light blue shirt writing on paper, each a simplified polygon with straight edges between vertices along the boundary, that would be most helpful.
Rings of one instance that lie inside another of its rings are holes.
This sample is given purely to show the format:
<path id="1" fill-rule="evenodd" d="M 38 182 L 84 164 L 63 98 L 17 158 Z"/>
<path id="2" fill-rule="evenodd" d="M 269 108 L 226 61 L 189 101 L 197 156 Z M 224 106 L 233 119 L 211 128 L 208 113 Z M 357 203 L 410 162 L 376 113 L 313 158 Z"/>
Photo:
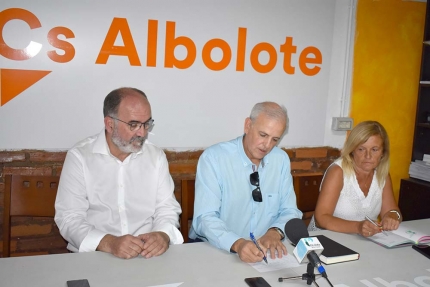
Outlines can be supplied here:
<path id="1" fill-rule="evenodd" d="M 203 152 L 190 239 L 236 252 L 248 263 L 265 259 L 268 250 L 272 259 L 287 254 L 282 243 L 285 223 L 302 218 L 290 160 L 276 146 L 287 121 L 285 108 L 258 103 L 245 120 L 244 135 Z"/>

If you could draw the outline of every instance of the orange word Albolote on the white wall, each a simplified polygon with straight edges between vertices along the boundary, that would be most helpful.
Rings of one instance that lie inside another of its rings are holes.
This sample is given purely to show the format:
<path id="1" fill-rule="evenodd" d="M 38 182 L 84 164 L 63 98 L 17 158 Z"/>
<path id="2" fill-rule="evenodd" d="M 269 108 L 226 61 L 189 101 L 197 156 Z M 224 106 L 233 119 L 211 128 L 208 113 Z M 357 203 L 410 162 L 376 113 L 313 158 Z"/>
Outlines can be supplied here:
<path id="1" fill-rule="evenodd" d="M 167 21 L 165 32 L 165 47 L 164 47 L 164 67 L 188 69 L 190 68 L 198 56 L 198 51 L 194 41 L 186 36 L 176 36 L 176 23 Z M 115 46 L 115 40 L 121 35 L 124 46 Z M 147 54 L 146 66 L 155 67 L 157 65 L 157 38 L 158 38 L 158 21 L 148 20 L 147 31 Z M 246 51 L 247 29 L 240 27 L 237 33 L 237 50 L 236 52 L 236 71 L 245 71 L 245 51 Z M 175 49 L 178 46 L 183 46 L 187 51 L 187 56 L 180 60 L 175 57 Z M 222 59 L 218 62 L 212 59 L 212 51 L 220 49 L 222 51 Z M 283 56 L 283 70 L 288 75 L 295 74 L 296 67 L 292 63 L 293 55 L 297 53 L 297 46 L 293 44 L 293 37 L 285 37 L 285 42 L 279 46 L 279 54 Z M 226 69 L 232 60 L 232 51 L 229 43 L 223 39 L 210 39 L 207 41 L 201 51 L 201 59 L 203 64 L 212 71 L 221 71 Z M 266 53 L 269 56 L 267 63 L 261 63 L 259 56 L 261 53 Z M 127 19 L 114 18 L 107 32 L 104 43 L 100 49 L 96 64 L 106 64 L 110 56 L 125 56 L 128 57 L 131 66 L 142 66 L 139 59 L 139 54 L 134 44 L 133 36 Z M 298 64 L 300 71 L 306 76 L 315 76 L 321 70 L 322 64 L 321 51 L 313 46 L 305 47 L 298 55 Z M 249 64 L 252 69 L 258 73 L 269 73 L 277 64 L 278 51 L 276 48 L 266 42 L 256 44 L 251 49 Z"/>

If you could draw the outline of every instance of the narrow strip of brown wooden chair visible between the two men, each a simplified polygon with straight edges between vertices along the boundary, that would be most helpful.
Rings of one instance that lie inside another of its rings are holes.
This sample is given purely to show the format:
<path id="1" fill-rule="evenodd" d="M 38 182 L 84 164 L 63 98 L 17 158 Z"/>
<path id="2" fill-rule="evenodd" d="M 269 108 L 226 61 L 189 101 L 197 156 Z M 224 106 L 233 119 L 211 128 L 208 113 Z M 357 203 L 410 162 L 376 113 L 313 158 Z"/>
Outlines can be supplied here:
<path id="1" fill-rule="evenodd" d="M 181 214 L 181 233 L 184 242 L 188 242 L 188 231 L 190 230 L 190 220 L 194 214 L 194 179 L 183 179 L 182 184 L 182 214 Z"/>

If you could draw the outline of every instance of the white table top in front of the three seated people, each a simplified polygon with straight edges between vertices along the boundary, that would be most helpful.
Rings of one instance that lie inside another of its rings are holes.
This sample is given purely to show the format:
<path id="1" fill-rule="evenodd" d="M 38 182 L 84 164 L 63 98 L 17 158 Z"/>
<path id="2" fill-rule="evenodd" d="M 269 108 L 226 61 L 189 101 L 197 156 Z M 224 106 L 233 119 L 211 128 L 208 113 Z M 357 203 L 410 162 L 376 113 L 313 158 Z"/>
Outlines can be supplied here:
<path id="1" fill-rule="evenodd" d="M 404 224 L 430 234 L 430 219 Z M 331 231 L 311 233 L 315 234 L 324 234 L 360 253 L 358 261 L 325 266 L 334 286 L 430 286 L 430 260 L 411 247 L 386 249 L 358 235 Z M 286 246 L 292 254 L 294 247 L 289 243 Z M 306 264 L 259 273 L 235 254 L 218 250 L 208 243 L 191 243 L 171 246 L 162 256 L 151 259 L 123 260 L 102 252 L 2 258 L 0 286 L 65 287 L 67 280 L 85 278 L 91 287 L 144 287 L 179 282 L 184 282 L 181 287 L 240 287 L 247 286 L 244 278 L 258 276 L 264 277 L 272 286 L 308 286 L 302 280 L 278 282 L 279 277 L 305 272 Z M 390 285 L 393 281 L 405 283 Z M 317 283 L 321 287 L 329 286 L 323 278 Z"/>

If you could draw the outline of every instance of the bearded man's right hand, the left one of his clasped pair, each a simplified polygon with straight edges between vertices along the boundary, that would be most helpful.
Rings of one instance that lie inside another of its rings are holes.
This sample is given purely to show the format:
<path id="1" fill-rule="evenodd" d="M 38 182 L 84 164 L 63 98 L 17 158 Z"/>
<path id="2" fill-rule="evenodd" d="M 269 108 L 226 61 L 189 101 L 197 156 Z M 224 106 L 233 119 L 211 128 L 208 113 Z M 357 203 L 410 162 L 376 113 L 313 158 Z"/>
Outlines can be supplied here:
<path id="1" fill-rule="evenodd" d="M 143 251 L 143 242 L 129 234 L 119 237 L 106 234 L 97 246 L 97 250 L 111 253 L 119 258 L 130 259 Z"/>

